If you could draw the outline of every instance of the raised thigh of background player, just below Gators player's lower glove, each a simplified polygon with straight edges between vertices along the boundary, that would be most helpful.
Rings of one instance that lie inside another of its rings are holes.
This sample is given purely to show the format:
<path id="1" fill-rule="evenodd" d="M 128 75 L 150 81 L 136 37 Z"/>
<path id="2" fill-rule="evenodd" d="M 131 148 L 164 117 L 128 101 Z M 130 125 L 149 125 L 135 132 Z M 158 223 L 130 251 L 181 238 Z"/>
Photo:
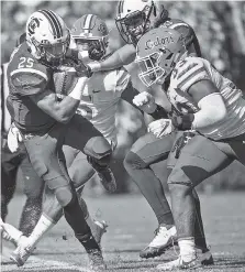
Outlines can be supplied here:
<path id="1" fill-rule="evenodd" d="M 145 163 L 152 164 L 167 159 L 174 141 L 175 133 L 163 138 L 146 133 L 133 144 L 131 151 L 137 154 Z"/>

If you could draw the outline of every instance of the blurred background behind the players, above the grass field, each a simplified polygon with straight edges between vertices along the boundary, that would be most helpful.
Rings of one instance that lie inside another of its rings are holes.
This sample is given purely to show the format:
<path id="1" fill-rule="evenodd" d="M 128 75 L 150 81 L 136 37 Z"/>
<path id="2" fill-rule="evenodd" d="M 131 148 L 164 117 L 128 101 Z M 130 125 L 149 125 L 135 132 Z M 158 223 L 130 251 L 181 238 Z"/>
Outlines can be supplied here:
<path id="1" fill-rule="evenodd" d="M 132 0 L 133 1 L 133 0 Z M 171 18 L 188 22 L 196 31 L 203 56 L 226 77 L 245 91 L 245 2 L 244 1 L 160 1 L 169 10 Z M 68 28 L 85 13 L 94 13 L 109 25 L 109 52 L 122 46 L 114 18 L 116 1 L 1 1 L 1 63 L 9 61 L 16 39 L 24 32 L 29 15 L 38 9 L 51 9 L 64 18 Z M 135 69 L 132 69 L 135 70 Z M 135 86 L 136 75 L 132 72 Z M 140 112 L 130 105 L 121 102 L 116 116 L 119 145 L 115 150 L 112 170 L 119 184 L 119 193 L 137 192 L 123 168 L 125 152 L 133 142 L 145 132 Z M 199 186 L 199 189 L 213 192 L 219 189 L 245 189 L 245 170 L 240 163 L 233 163 L 226 170 Z M 20 177 L 21 178 L 21 173 Z M 90 183 L 87 194 L 98 191 L 96 182 Z M 21 189 L 21 181 L 19 182 Z M 91 189 L 93 188 L 93 189 Z"/>

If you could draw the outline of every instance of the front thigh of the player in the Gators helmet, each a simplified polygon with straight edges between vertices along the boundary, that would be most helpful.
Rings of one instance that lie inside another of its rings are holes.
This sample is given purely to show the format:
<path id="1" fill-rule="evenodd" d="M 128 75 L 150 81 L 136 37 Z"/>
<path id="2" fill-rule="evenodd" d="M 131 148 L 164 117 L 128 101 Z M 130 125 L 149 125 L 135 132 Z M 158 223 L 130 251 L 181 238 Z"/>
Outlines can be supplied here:
<path id="1" fill-rule="evenodd" d="M 233 159 L 222 152 L 211 140 L 193 137 L 181 150 L 168 183 L 196 186 L 226 167 Z"/>

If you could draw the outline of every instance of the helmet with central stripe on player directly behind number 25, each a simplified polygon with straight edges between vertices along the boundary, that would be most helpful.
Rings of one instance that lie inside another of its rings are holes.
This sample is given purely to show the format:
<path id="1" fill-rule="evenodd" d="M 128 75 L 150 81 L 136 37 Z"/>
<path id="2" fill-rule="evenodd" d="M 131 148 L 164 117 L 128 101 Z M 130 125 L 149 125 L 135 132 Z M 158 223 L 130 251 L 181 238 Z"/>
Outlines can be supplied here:
<path id="1" fill-rule="evenodd" d="M 78 19 L 70 31 L 78 51 L 92 61 L 100 61 L 107 53 L 109 30 L 105 22 L 94 14 Z"/>

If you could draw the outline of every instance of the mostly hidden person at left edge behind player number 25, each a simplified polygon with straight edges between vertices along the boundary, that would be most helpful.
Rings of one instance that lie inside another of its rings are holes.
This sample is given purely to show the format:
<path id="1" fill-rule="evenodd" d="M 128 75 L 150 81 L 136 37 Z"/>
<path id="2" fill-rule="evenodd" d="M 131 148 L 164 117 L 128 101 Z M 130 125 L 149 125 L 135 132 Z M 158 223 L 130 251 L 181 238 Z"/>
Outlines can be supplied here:
<path id="1" fill-rule="evenodd" d="M 23 36 L 19 40 L 16 46 L 22 43 Z M 16 173 L 20 166 L 23 173 L 26 202 L 22 210 L 19 228 L 25 236 L 29 236 L 42 213 L 43 181 L 31 166 L 22 143 L 20 144 L 20 149 L 14 153 L 8 148 L 10 137 L 8 139 L 7 135 L 11 126 L 11 117 L 5 106 L 5 98 L 9 95 L 7 67 L 8 63 L 1 65 L 1 218 L 5 220 L 8 205 L 13 197 L 16 186 Z M 12 130 L 10 135 L 15 138 L 14 133 L 15 131 Z"/>

